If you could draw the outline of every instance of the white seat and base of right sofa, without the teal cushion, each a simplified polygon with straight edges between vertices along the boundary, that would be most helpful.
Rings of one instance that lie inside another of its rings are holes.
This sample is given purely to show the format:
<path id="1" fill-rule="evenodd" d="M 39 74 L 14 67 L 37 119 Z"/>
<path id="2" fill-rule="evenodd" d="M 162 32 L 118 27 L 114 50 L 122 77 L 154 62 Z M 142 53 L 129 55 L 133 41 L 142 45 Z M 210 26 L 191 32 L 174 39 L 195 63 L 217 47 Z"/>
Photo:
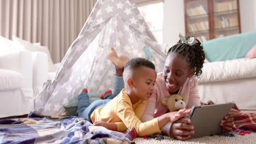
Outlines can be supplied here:
<path id="1" fill-rule="evenodd" d="M 256 58 L 204 63 L 198 82 L 205 103 L 234 101 L 241 110 L 256 110 Z"/>

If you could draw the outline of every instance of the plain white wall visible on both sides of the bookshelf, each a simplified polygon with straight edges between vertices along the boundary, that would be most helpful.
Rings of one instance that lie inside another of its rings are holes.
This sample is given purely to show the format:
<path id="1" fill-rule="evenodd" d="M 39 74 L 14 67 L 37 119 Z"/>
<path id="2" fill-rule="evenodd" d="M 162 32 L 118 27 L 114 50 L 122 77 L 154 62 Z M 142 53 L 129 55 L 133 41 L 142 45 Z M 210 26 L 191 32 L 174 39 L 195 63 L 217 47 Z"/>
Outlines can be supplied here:
<path id="1" fill-rule="evenodd" d="M 240 0 L 241 33 L 256 31 L 256 1 Z M 185 34 L 184 1 L 165 0 L 163 43 L 176 44 L 178 34 Z"/>

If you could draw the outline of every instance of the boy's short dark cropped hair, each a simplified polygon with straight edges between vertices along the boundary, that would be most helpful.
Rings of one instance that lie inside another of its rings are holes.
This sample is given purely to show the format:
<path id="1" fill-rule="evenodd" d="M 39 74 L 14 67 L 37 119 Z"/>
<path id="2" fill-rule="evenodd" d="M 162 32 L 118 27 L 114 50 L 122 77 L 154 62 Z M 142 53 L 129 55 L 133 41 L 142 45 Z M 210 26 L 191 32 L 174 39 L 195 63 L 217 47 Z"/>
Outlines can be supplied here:
<path id="1" fill-rule="evenodd" d="M 137 57 L 130 59 L 130 61 L 125 64 L 124 72 L 127 70 L 134 71 L 141 68 L 142 66 L 155 70 L 155 65 L 152 62 L 148 61 L 148 59 Z"/>

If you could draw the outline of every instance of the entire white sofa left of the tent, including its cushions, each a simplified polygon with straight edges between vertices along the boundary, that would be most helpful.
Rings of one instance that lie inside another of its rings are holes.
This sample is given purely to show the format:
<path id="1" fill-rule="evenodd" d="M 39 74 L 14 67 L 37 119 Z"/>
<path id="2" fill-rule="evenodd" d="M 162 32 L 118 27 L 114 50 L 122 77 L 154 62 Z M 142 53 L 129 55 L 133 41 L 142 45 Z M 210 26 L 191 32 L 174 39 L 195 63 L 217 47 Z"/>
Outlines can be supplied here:
<path id="1" fill-rule="evenodd" d="M 37 43 L 30 46 L 0 36 L 0 45 L 0 118 L 28 114 L 48 80 L 48 55 L 44 49 L 29 49 L 42 48 Z"/>

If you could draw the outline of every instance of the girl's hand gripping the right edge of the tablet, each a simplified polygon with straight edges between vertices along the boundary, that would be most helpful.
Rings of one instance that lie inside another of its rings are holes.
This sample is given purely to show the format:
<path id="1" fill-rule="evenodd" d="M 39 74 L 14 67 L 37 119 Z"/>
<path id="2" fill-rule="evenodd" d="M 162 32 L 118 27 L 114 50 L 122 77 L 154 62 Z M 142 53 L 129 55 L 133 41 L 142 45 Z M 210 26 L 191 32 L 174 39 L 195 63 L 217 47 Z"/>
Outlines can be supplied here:
<path id="1" fill-rule="evenodd" d="M 223 133 L 227 133 L 232 130 L 234 125 L 234 113 L 229 113 L 220 121 L 220 126 L 223 127 Z"/>

